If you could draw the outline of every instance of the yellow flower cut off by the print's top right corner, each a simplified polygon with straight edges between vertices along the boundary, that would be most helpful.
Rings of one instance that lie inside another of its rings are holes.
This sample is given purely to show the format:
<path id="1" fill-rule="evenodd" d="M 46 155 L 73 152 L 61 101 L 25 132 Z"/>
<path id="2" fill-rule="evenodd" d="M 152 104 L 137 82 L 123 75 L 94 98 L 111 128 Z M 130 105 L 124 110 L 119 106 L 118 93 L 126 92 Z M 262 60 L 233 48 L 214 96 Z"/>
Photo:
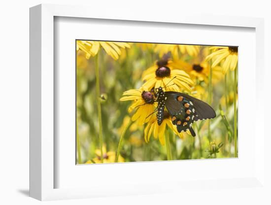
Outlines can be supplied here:
<path id="1" fill-rule="evenodd" d="M 208 55 L 205 58 L 205 61 L 209 61 L 212 59 L 212 68 L 216 67 L 219 63 L 221 63 L 224 74 L 227 73 L 229 69 L 236 69 L 238 61 L 238 47 L 213 46 L 210 48 L 210 50 L 214 52 Z"/>

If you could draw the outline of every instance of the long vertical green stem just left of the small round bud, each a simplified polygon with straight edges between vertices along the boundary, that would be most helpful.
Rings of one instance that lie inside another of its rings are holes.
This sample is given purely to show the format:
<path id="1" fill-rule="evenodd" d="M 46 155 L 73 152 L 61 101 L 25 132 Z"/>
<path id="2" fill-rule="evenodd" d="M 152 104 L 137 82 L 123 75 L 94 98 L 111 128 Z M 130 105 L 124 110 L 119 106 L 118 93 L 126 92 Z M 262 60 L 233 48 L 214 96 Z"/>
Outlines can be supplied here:
<path id="1" fill-rule="evenodd" d="M 101 161 L 103 163 L 103 153 L 102 153 L 102 109 L 100 101 L 100 75 L 99 75 L 99 58 L 98 54 L 95 56 L 95 75 L 96 75 L 96 102 L 99 118 L 99 140 L 100 140 L 100 149 L 101 149 Z"/>

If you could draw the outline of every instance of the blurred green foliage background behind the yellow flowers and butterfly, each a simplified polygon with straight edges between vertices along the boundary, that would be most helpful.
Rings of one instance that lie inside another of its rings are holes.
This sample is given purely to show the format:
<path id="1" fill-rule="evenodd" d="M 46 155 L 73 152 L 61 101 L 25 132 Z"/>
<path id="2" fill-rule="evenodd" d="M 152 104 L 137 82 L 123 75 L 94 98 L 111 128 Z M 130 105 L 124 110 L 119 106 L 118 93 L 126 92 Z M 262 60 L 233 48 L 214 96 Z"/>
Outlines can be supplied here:
<path id="1" fill-rule="evenodd" d="M 153 46 L 153 45 L 152 45 Z M 120 102 L 122 93 L 129 89 L 138 89 L 142 85 L 141 75 L 144 70 L 153 66 L 159 60 L 159 53 L 152 46 L 143 46 L 142 43 L 131 43 L 131 48 L 121 48 L 118 60 L 100 49 L 99 70 L 100 90 L 102 103 L 102 132 L 105 149 L 116 152 L 121 133 L 128 124 L 133 113 L 128 113 L 131 102 Z M 201 55 L 208 46 L 201 46 Z M 168 54 L 169 57 L 170 53 Z M 200 54 L 199 54 L 200 55 Z M 180 59 L 192 65 L 195 58 L 188 54 L 180 54 Z M 97 157 L 95 150 L 100 149 L 99 123 L 97 113 L 97 99 L 95 90 L 95 65 L 94 58 L 86 58 L 85 53 L 77 51 L 77 125 L 78 138 L 81 152 L 81 163 L 91 163 Z M 197 136 L 185 134 L 183 139 L 170 135 L 170 146 L 173 159 L 205 159 L 234 157 L 233 128 L 233 73 L 227 74 L 228 109 L 225 106 L 225 81 L 224 75 L 217 80 L 212 88 L 212 107 L 217 117 L 211 120 L 211 141 L 207 137 L 208 120 L 194 123 Z M 199 80 L 197 86 L 202 87 L 202 100 L 207 102 L 207 84 Z M 195 89 L 197 93 L 199 90 Z M 166 146 L 159 140 L 150 138 L 149 143 L 144 141 L 144 125 L 133 123 L 123 140 L 120 155 L 125 162 L 161 161 L 167 160 Z M 215 144 L 215 145 L 214 145 Z M 216 145 L 218 144 L 218 145 Z M 211 147 L 211 148 L 210 148 Z M 207 151 L 206 151 L 207 150 Z"/>

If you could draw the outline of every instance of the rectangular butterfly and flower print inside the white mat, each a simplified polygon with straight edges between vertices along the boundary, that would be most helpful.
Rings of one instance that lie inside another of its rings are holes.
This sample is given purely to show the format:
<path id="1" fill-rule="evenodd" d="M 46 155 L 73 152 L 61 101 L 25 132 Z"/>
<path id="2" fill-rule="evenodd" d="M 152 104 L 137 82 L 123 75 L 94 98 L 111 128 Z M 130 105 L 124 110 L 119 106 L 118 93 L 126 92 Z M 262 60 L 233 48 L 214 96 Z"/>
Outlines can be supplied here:
<path id="1" fill-rule="evenodd" d="M 76 164 L 237 157 L 237 46 L 76 40 Z"/>

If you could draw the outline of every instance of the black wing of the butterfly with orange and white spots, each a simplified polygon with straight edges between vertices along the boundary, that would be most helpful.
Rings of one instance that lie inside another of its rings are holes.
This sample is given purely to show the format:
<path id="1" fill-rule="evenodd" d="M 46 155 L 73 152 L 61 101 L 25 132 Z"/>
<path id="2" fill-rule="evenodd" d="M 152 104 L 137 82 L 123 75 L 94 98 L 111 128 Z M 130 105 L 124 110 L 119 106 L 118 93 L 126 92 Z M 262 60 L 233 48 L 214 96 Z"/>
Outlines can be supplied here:
<path id="1" fill-rule="evenodd" d="M 211 119 L 216 116 L 210 105 L 189 95 L 169 91 L 165 92 L 165 97 L 167 98 L 165 106 L 179 133 L 189 130 L 195 137 L 192 124 L 197 120 Z"/>

